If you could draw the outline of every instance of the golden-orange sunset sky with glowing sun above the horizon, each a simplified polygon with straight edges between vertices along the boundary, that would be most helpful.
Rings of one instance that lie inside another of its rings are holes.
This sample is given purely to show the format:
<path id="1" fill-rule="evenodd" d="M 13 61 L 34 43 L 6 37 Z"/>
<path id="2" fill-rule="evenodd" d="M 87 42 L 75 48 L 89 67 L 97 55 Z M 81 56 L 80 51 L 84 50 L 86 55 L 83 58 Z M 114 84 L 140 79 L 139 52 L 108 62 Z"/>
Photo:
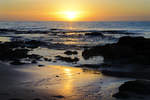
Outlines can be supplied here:
<path id="1" fill-rule="evenodd" d="M 150 21 L 150 0 L 0 0 L 1 21 Z"/>

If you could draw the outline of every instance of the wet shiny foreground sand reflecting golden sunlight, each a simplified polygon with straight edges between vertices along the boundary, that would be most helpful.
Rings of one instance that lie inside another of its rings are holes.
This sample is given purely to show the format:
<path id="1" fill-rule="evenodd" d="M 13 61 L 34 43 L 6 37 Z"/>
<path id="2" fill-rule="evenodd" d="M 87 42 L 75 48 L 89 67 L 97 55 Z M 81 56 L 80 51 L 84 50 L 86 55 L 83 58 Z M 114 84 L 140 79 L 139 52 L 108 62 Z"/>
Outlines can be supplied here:
<path id="1" fill-rule="evenodd" d="M 1 64 L 0 67 L 2 100 L 115 100 L 112 95 L 118 86 L 129 80 L 70 66 Z"/>

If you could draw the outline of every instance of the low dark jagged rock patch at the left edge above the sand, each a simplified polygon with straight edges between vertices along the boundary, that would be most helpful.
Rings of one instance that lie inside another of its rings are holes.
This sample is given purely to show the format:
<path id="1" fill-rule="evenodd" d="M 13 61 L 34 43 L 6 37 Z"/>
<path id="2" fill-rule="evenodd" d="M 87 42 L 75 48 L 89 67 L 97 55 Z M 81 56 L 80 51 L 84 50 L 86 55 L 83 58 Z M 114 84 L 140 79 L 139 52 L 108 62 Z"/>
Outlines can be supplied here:
<path id="1" fill-rule="evenodd" d="M 39 60 L 42 58 L 40 55 L 29 54 L 34 48 L 43 45 L 40 41 L 12 41 L 0 43 L 0 60 L 1 61 L 11 61 L 10 64 L 22 65 L 25 64 L 21 62 L 21 59 Z"/>

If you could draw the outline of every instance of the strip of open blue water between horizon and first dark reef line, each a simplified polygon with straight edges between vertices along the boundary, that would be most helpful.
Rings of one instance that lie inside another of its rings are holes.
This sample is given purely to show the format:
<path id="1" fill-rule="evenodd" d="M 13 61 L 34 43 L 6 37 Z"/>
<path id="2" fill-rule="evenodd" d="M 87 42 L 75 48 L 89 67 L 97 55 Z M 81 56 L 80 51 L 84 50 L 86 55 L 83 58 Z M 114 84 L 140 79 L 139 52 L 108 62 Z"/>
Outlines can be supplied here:
<path id="1" fill-rule="evenodd" d="M 150 32 L 150 22 L 0 22 L 0 28 L 19 30 L 127 30 L 134 32 Z"/>

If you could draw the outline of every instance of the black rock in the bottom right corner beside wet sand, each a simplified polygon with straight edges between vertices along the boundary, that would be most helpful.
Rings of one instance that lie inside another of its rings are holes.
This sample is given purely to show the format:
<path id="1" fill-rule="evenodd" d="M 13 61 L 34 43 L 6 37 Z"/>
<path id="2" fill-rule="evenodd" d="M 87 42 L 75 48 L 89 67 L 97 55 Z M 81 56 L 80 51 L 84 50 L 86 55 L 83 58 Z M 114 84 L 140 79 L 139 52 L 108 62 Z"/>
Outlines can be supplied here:
<path id="1" fill-rule="evenodd" d="M 119 92 L 114 94 L 113 97 L 129 98 L 133 97 L 133 94 L 150 96 L 149 86 L 149 80 L 128 81 L 119 87 Z"/>

